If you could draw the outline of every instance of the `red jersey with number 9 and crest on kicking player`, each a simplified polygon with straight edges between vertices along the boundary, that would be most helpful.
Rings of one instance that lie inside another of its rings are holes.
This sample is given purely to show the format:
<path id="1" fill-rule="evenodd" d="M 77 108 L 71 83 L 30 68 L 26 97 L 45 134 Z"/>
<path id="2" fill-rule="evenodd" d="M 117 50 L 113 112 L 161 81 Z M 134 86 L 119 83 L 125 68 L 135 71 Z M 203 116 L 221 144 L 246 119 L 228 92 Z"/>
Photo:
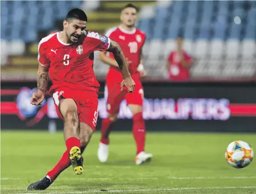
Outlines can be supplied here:
<path id="1" fill-rule="evenodd" d="M 49 66 L 50 93 L 61 86 L 98 92 L 99 82 L 93 71 L 94 51 L 108 49 L 110 39 L 85 31 L 78 43 L 67 44 L 60 40 L 59 33 L 42 38 L 38 45 L 39 63 Z"/>

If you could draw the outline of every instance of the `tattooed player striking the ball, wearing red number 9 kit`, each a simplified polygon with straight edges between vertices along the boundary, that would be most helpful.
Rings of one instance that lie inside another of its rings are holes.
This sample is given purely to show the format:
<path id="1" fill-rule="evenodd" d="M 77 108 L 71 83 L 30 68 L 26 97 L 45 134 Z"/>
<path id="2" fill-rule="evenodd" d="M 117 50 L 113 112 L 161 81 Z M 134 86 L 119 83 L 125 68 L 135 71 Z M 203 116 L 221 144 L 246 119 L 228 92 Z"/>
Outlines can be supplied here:
<path id="1" fill-rule="evenodd" d="M 48 73 L 52 80 L 52 95 L 57 114 L 64 121 L 66 152 L 44 178 L 28 186 L 28 190 L 45 190 L 57 176 L 72 164 L 74 173 L 83 173 L 83 157 L 98 117 L 99 83 L 93 71 L 94 51 L 114 54 L 124 81 L 119 89 L 134 92 L 124 53 L 115 41 L 97 32 L 86 31 L 87 15 L 81 9 L 72 9 L 63 21 L 63 31 L 52 33 L 38 46 L 38 92 L 30 103 L 39 105 L 44 100 Z M 54 147 L 52 147 L 54 149 Z M 51 150 L 49 151 L 51 154 Z"/>

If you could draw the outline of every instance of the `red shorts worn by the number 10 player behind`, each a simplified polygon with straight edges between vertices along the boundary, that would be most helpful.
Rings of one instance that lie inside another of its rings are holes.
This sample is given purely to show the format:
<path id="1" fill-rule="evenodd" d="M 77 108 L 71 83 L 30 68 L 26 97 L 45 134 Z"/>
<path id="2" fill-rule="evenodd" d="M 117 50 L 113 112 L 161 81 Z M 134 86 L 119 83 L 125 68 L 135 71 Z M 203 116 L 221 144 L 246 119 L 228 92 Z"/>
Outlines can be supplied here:
<path id="1" fill-rule="evenodd" d="M 106 80 L 105 98 L 107 98 L 106 109 L 108 110 L 108 113 L 118 113 L 120 103 L 124 99 L 128 105 L 137 104 L 142 106 L 144 98 L 143 87 L 140 79 L 133 79 L 135 81 L 135 90 L 131 93 L 127 91 L 126 87 L 124 87 L 121 91 L 120 83 L 117 83 L 113 80 Z"/>

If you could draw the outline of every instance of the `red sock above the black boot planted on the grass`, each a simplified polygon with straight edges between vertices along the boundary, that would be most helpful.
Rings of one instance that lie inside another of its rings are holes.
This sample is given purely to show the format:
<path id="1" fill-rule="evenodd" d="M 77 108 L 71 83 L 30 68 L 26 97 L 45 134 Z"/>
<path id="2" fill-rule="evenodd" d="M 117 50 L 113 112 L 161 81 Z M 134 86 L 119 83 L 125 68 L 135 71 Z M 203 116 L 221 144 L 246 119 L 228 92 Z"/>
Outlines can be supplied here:
<path id="1" fill-rule="evenodd" d="M 47 173 L 47 175 L 50 177 L 50 179 L 55 180 L 57 178 L 57 176 L 59 174 L 61 174 L 61 172 L 63 170 L 65 170 L 66 168 L 68 168 L 70 165 L 71 165 L 70 153 L 68 151 L 66 151 L 66 152 L 64 152 L 60 161 L 58 161 L 56 166 L 52 170 L 50 170 Z"/>

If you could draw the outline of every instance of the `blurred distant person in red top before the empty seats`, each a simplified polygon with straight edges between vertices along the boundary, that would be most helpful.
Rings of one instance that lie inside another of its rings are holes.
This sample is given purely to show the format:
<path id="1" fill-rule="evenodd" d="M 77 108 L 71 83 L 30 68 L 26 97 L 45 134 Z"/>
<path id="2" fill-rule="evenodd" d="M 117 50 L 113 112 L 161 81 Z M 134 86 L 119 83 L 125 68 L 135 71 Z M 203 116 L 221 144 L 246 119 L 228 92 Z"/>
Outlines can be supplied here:
<path id="1" fill-rule="evenodd" d="M 189 70 L 193 64 L 193 59 L 183 50 L 183 37 L 177 38 L 177 50 L 169 54 L 166 69 L 171 81 L 189 81 Z"/>

